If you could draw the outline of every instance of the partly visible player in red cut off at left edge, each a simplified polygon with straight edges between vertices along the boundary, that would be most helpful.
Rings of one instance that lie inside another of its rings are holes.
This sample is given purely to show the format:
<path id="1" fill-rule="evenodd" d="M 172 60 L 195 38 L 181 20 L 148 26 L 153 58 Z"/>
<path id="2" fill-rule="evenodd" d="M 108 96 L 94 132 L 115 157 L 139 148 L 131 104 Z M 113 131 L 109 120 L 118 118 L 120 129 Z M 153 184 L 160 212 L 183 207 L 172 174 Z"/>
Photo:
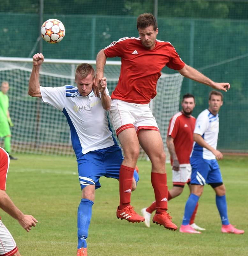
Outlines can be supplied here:
<path id="1" fill-rule="evenodd" d="M 5 192 L 6 178 L 9 169 L 10 157 L 8 153 L 0 148 L 0 207 L 11 217 L 18 220 L 20 225 L 29 232 L 35 223 L 38 222 L 32 215 L 23 214 L 12 202 Z M 4 226 L 0 217 L 0 255 L 21 256 L 16 243 L 9 230 Z"/>

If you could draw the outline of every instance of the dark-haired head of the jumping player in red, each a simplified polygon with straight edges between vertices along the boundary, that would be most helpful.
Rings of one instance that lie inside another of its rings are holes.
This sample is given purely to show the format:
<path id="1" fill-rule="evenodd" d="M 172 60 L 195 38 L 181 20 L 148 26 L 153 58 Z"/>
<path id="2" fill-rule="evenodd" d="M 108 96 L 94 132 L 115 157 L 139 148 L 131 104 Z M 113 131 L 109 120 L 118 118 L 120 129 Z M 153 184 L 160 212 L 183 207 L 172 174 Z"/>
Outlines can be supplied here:
<path id="1" fill-rule="evenodd" d="M 149 50 L 154 49 L 158 34 L 158 25 L 151 13 L 140 14 L 137 18 L 137 29 L 141 43 Z"/>

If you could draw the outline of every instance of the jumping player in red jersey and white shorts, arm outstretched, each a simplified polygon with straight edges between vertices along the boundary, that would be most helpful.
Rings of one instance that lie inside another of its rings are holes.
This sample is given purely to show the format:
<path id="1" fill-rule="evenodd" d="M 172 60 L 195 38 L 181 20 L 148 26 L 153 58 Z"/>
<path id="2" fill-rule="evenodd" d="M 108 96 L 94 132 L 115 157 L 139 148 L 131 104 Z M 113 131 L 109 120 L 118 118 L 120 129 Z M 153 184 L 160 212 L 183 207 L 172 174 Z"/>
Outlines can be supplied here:
<path id="1" fill-rule="evenodd" d="M 124 37 L 102 49 L 96 57 L 96 80 L 101 79 L 107 58 L 121 57 L 122 65 L 118 84 L 111 95 L 110 119 L 124 149 L 125 158 L 120 168 L 120 205 L 118 218 L 129 214 L 131 220 L 143 221 L 130 205 L 132 176 L 139 156 L 139 144 L 152 162 L 151 180 L 156 199 L 156 221 L 176 230 L 167 210 L 167 178 L 165 152 L 158 125 L 149 108 L 156 96 L 156 84 L 164 66 L 176 69 L 183 76 L 226 91 L 228 83 L 215 83 L 196 69 L 186 65 L 169 42 L 156 40 L 157 21 L 151 13 L 137 19 L 139 37 Z M 94 88 L 98 95 L 97 88 Z"/>

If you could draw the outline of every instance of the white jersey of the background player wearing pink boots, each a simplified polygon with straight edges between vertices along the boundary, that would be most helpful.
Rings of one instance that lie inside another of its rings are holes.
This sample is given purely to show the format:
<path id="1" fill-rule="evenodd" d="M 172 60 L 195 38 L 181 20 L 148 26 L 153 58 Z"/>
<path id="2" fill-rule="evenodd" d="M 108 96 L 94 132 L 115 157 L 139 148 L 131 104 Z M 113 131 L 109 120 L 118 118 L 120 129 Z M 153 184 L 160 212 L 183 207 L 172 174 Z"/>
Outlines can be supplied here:
<path id="1" fill-rule="evenodd" d="M 208 109 L 202 111 L 196 119 L 194 133 L 200 134 L 208 145 L 216 149 L 219 133 L 219 114 L 214 116 Z M 201 147 L 196 142 L 193 144 L 191 156 L 200 156 L 208 160 L 215 159 L 210 150 Z"/>

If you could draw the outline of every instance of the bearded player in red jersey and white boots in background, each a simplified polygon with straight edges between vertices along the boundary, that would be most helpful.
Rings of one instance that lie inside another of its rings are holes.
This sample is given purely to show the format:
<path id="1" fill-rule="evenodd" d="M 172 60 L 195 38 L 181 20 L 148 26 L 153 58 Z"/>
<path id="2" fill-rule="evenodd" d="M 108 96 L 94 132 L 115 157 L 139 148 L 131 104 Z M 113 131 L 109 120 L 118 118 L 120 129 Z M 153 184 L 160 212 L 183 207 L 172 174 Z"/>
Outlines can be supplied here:
<path id="1" fill-rule="evenodd" d="M 182 194 L 185 183 L 188 184 L 190 192 L 191 165 L 190 154 L 193 147 L 193 132 L 195 129 L 195 118 L 191 115 L 195 107 L 195 98 L 192 94 L 187 93 L 183 96 L 182 111 L 171 117 L 166 144 L 170 153 L 170 163 L 172 166 L 173 188 L 168 191 L 170 199 Z M 205 230 L 194 223 L 198 204 L 191 217 L 190 225 L 196 230 Z M 150 227 L 150 218 L 152 212 L 156 210 L 156 202 L 148 208 L 141 210 L 145 218 L 145 225 Z"/>

